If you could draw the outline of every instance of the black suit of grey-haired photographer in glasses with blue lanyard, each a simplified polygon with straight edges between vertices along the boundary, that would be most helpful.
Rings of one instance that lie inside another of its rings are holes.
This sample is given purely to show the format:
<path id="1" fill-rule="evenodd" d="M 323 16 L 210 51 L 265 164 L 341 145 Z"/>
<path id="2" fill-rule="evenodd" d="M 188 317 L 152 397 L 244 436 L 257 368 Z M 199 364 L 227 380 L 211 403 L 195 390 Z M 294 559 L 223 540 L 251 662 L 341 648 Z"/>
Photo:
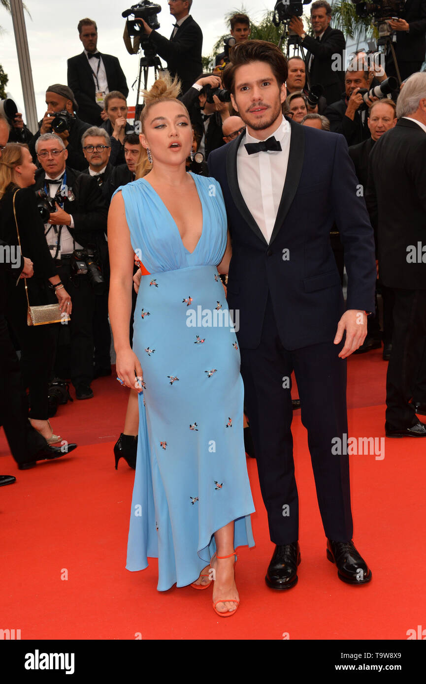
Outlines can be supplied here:
<path id="1" fill-rule="evenodd" d="M 36 172 L 34 189 L 45 185 L 45 172 Z M 97 181 L 84 173 L 66 167 L 66 185 L 71 188 L 74 200 L 65 198 L 64 211 L 73 216 L 74 228 L 67 226 L 75 242 L 87 248 L 95 246 L 100 259 L 105 258 L 105 231 L 108 209 Z M 71 323 L 60 326 L 58 358 L 55 374 L 71 378 L 73 384 L 88 385 L 92 380 L 93 313 L 95 293 L 88 274 L 74 275 L 72 258 L 62 256 L 55 260 L 57 273 L 73 302 Z"/>

